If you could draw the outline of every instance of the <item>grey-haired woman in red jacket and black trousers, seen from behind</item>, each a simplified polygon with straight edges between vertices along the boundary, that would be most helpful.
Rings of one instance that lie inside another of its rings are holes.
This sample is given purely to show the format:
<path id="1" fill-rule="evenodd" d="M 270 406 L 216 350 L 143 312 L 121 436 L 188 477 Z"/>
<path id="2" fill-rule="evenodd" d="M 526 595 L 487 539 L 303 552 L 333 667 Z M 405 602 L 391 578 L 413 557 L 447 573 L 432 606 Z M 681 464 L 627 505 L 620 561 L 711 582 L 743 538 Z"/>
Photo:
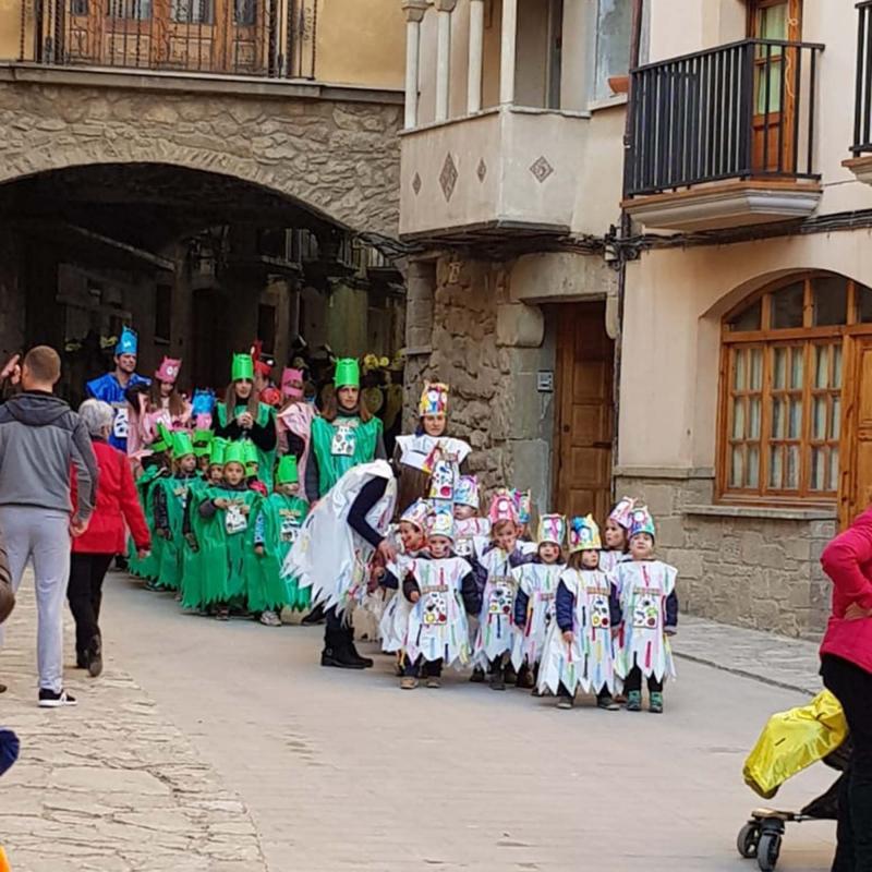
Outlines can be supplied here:
<path id="1" fill-rule="evenodd" d="M 126 552 L 126 529 L 141 557 L 148 553 L 152 543 L 128 458 L 107 441 L 112 431 L 112 407 L 101 400 L 85 400 L 78 414 L 90 434 L 100 477 L 97 507 L 88 529 L 73 540 L 66 598 L 75 618 L 76 665 L 96 678 L 102 671 L 98 620 L 104 577 L 112 558 Z M 75 496 L 73 470 L 73 502 Z"/>

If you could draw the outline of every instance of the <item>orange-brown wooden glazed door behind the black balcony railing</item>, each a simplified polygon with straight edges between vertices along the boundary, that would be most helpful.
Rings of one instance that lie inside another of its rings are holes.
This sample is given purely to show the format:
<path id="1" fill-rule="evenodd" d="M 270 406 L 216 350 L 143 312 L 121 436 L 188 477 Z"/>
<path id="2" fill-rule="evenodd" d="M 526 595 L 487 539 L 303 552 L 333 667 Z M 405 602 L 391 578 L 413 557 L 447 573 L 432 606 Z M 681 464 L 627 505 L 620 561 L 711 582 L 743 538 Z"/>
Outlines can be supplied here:
<path id="1" fill-rule="evenodd" d="M 750 0 L 752 39 L 797 43 L 802 0 Z M 794 172 L 797 140 L 799 51 L 779 45 L 754 48 L 752 167 L 756 172 Z"/>

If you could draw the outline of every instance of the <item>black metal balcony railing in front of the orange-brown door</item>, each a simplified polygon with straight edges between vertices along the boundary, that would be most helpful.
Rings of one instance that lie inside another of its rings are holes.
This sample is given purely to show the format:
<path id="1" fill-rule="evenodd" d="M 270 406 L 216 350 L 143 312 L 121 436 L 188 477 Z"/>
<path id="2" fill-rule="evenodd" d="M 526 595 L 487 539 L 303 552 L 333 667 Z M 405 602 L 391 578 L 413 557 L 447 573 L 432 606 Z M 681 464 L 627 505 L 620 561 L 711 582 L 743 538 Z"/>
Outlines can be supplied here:
<path id="1" fill-rule="evenodd" d="M 818 178 L 822 50 L 744 39 L 633 70 L 627 195 L 725 179 Z"/>

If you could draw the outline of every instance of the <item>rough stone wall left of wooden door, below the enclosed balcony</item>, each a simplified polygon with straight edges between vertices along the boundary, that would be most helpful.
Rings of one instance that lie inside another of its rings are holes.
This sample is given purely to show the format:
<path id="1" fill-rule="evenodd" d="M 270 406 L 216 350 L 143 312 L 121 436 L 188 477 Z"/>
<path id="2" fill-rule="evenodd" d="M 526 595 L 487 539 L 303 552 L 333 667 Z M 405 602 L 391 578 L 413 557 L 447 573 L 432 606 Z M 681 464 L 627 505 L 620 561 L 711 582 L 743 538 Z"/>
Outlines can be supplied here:
<path id="1" fill-rule="evenodd" d="M 543 511 L 553 403 L 535 382 L 537 370 L 553 367 L 554 348 L 540 311 L 510 302 L 508 277 L 505 264 L 449 256 L 410 269 L 405 432 L 422 383 L 447 382 L 451 433 L 472 446 L 469 468 L 485 494 L 531 487 Z"/>

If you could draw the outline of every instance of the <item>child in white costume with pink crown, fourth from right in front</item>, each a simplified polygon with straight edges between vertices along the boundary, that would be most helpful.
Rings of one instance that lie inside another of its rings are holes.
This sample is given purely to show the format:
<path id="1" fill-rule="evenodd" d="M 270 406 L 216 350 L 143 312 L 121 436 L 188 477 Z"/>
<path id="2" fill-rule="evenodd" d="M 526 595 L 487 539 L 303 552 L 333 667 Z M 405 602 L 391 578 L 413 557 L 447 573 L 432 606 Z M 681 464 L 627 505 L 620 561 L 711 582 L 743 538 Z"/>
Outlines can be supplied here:
<path id="1" fill-rule="evenodd" d="M 514 592 L 511 571 L 529 561 L 518 543 L 518 513 L 508 492 L 498 492 L 491 505 L 493 544 L 476 564 L 483 590 L 475 661 L 491 674 L 491 689 L 506 690 L 506 661 L 514 641 Z"/>

